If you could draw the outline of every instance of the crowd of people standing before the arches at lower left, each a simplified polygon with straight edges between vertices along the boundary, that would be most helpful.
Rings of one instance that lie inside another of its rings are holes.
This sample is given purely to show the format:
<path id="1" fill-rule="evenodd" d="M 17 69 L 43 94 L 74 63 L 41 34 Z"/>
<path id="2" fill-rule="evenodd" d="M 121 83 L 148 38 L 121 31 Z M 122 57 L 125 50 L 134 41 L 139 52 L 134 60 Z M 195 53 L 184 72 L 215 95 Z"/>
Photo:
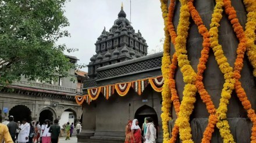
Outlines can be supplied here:
<path id="1" fill-rule="evenodd" d="M 1 121 L 0 117 L 0 121 Z M 8 121 L 8 122 L 6 122 Z M 13 121 L 13 116 L 9 120 L 0 123 L 0 141 L 5 143 L 58 143 L 61 127 L 59 120 L 54 120 L 54 124 L 50 120 L 45 120 L 40 126 L 39 122 L 27 122 L 26 119 L 16 123 Z M 7 126 L 6 126 L 7 125 Z"/>

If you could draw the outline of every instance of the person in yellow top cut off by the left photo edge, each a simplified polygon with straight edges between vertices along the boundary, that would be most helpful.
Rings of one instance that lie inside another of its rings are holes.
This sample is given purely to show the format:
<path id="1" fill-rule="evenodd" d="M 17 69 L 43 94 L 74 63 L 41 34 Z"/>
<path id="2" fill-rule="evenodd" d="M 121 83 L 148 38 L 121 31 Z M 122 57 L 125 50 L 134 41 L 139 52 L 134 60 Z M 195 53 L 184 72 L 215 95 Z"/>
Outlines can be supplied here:
<path id="1" fill-rule="evenodd" d="M 0 116 L 0 141 L 5 141 L 5 143 L 13 143 L 12 137 L 10 137 L 10 133 L 8 127 L 5 124 L 2 124 L 2 116 Z"/>

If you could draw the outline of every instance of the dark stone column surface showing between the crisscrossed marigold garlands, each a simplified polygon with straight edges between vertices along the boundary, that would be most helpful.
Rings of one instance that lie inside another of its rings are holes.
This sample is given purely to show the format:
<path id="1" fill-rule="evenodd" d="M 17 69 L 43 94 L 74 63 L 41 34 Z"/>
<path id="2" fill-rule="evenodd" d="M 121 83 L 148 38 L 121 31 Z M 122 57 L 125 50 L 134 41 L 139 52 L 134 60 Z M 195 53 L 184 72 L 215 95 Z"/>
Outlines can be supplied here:
<path id="1" fill-rule="evenodd" d="M 245 27 L 246 24 L 246 9 L 242 0 L 232 0 L 232 5 L 236 9 L 237 16 L 239 18 L 240 24 Z M 194 1 L 194 6 L 200 13 L 202 20 L 204 21 L 205 26 L 209 30 L 209 24 L 211 23 L 211 17 L 215 6 L 214 0 L 196 0 Z M 175 6 L 175 16 L 173 23 L 177 30 L 177 25 L 179 23 L 180 15 L 180 2 L 176 1 Z M 194 24 L 194 21 L 190 19 L 190 30 L 189 37 L 187 38 L 187 54 L 189 56 L 190 64 L 197 72 L 197 65 L 199 58 L 201 57 L 202 50 L 202 36 L 198 32 L 197 25 Z M 223 10 L 223 17 L 221 20 L 221 26 L 219 27 L 219 43 L 222 45 L 225 56 L 228 59 L 229 64 L 234 67 L 234 61 L 236 60 L 236 49 L 239 41 L 236 38 L 235 33 L 233 32 L 232 25 Z M 171 54 L 174 53 L 173 45 L 171 46 Z M 248 62 L 247 56 L 244 57 L 244 67 L 241 71 L 241 83 L 244 90 L 247 93 L 248 100 L 251 101 L 253 109 L 256 107 L 256 88 L 255 88 L 255 78 L 253 76 L 253 68 Z M 183 76 L 180 72 L 180 68 L 177 68 L 176 75 L 176 87 L 177 93 L 179 94 L 180 101 L 183 98 L 184 82 Z M 209 53 L 209 58 L 207 62 L 207 69 L 204 72 L 204 86 L 208 91 L 209 95 L 214 102 L 215 108 L 219 107 L 219 100 L 221 98 L 221 91 L 223 88 L 223 83 L 225 82 L 223 74 L 220 71 L 218 64 L 216 63 L 214 53 L 212 49 Z M 195 102 L 195 108 L 190 116 L 190 126 L 192 129 L 193 141 L 201 142 L 202 135 L 204 133 L 205 127 L 208 124 L 208 116 L 206 105 L 202 102 L 199 94 L 196 94 L 197 101 Z M 172 107 L 173 108 L 173 107 Z M 239 98 L 235 91 L 232 93 L 232 97 L 227 106 L 227 120 L 230 125 L 231 133 L 236 142 L 250 142 L 251 136 L 251 126 L 252 123 L 250 119 L 247 118 L 247 112 L 243 109 Z M 170 121 L 170 129 L 172 129 L 173 124 L 177 118 L 175 110 L 172 109 L 172 118 Z M 219 130 L 215 127 L 214 134 L 212 135 L 212 142 L 223 142 Z M 179 141 L 181 142 L 181 141 Z"/>

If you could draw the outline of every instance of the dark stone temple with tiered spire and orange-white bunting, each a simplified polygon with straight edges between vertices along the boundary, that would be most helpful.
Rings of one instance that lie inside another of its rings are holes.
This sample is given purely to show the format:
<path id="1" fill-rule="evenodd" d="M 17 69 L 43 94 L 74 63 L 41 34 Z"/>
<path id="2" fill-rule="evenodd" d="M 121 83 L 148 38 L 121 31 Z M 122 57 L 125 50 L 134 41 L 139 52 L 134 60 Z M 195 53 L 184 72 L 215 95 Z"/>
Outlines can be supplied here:
<path id="1" fill-rule="evenodd" d="M 158 130 L 157 141 L 162 142 L 162 53 L 147 56 L 146 40 L 126 19 L 123 6 L 95 46 L 84 96 L 76 96 L 83 107 L 78 142 L 124 142 L 128 120 L 138 119 L 141 127 L 149 116 Z"/>

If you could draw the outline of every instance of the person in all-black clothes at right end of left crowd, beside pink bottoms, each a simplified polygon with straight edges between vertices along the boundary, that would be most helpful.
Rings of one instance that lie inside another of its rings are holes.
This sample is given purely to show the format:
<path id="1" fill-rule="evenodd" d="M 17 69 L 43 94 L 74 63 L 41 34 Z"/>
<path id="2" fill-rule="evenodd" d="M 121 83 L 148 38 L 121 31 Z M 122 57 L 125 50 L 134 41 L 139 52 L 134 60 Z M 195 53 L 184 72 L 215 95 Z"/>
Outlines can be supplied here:
<path id="1" fill-rule="evenodd" d="M 55 119 L 54 124 L 49 129 L 49 133 L 51 133 L 51 143 L 58 143 L 59 134 L 61 134 L 61 126 L 59 126 L 59 120 Z"/>

